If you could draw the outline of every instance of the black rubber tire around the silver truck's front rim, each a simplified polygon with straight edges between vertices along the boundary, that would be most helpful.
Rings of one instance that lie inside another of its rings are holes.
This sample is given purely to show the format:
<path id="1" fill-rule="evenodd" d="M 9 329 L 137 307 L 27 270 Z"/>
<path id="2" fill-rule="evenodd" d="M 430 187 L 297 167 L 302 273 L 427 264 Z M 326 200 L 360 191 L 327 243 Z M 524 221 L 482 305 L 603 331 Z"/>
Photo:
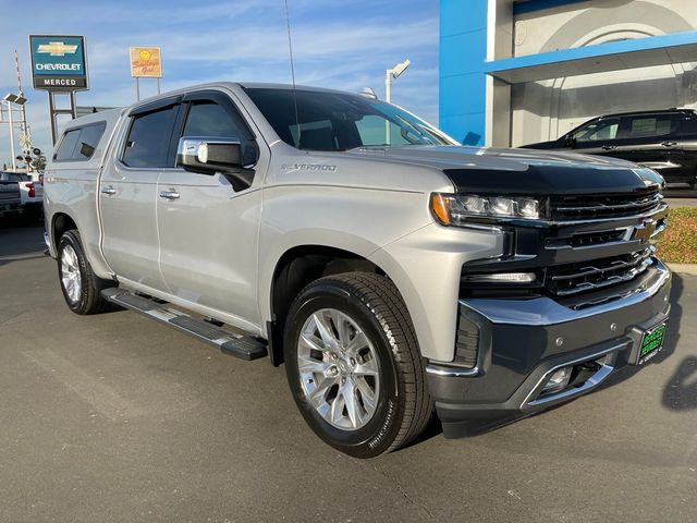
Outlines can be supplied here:
<path id="1" fill-rule="evenodd" d="M 333 308 L 352 317 L 377 353 L 380 388 L 372 417 L 360 428 L 342 430 L 326 421 L 303 390 L 298 339 L 315 312 Z M 408 312 L 391 280 L 370 272 L 321 278 L 297 295 L 289 312 L 284 361 L 295 402 L 311 429 L 335 449 L 372 458 L 416 438 L 429 423 L 433 403 Z"/>

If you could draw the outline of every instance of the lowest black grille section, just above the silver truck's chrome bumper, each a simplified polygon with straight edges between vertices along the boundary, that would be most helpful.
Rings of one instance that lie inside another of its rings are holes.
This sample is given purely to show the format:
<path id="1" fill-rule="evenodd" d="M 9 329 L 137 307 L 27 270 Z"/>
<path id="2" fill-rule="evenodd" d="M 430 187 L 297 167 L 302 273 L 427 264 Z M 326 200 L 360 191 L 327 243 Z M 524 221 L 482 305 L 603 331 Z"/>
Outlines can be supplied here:
<path id="1" fill-rule="evenodd" d="M 558 296 L 566 296 L 628 281 L 653 263 L 652 254 L 653 248 L 649 247 L 592 262 L 551 266 L 547 269 L 546 287 Z"/>

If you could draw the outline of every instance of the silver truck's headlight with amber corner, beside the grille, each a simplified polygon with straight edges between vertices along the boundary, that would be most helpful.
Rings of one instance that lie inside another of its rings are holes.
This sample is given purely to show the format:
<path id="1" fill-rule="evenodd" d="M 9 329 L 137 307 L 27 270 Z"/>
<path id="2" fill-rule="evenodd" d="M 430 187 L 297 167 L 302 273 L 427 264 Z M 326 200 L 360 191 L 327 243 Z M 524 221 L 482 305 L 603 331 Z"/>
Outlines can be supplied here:
<path id="1" fill-rule="evenodd" d="M 444 226 L 465 223 L 469 217 L 523 218 L 541 217 L 541 204 L 528 196 L 478 196 L 474 194 L 431 194 L 431 212 Z"/>

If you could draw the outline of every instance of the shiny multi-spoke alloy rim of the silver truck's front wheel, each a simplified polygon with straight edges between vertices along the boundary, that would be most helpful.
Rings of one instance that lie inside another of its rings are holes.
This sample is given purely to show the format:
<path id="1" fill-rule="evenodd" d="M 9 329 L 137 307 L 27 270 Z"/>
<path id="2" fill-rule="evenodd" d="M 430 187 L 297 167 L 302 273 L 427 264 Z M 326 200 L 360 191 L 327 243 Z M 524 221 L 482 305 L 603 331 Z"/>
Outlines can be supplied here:
<path id="1" fill-rule="evenodd" d="M 327 423 L 356 430 L 374 416 L 380 393 L 378 355 L 348 315 L 322 308 L 309 316 L 297 341 L 305 397 Z"/>

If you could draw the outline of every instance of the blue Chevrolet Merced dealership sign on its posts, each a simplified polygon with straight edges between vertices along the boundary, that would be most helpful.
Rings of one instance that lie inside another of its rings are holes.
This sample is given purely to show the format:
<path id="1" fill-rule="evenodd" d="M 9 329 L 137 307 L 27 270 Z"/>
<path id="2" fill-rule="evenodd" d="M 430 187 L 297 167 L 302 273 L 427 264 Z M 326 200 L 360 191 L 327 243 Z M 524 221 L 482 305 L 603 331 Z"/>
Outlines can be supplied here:
<path id="1" fill-rule="evenodd" d="M 32 80 L 35 89 L 48 90 L 53 145 L 58 139 L 56 117 L 75 118 L 75 92 L 88 89 L 84 36 L 29 35 Z M 70 109 L 57 109 L 54 96 L 69 95 Z"/>

